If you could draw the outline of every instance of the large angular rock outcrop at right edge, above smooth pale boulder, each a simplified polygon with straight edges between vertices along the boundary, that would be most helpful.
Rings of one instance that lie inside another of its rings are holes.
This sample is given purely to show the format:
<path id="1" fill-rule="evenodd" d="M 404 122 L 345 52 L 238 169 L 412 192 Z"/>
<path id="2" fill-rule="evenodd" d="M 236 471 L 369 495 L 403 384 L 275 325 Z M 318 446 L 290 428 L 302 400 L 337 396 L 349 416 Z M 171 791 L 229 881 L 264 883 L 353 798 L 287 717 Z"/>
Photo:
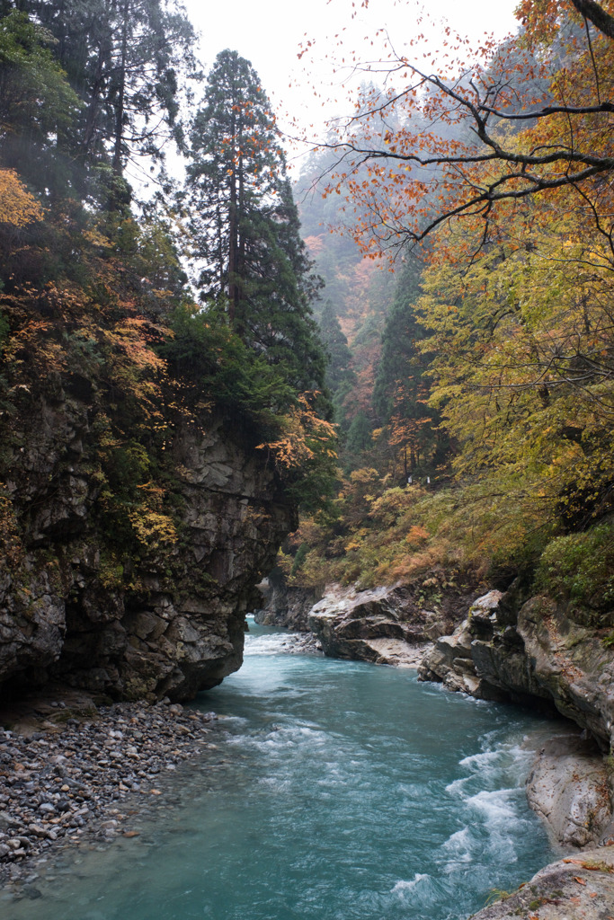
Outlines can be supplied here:
<path id="1" fill-rule="evenodd" d="M 485 699 L 555 707 L 608 751 L 614 744 L 614 649 L 547 597 L 522 603 L 516 587 L 489 592 L 420 668 Z"/>

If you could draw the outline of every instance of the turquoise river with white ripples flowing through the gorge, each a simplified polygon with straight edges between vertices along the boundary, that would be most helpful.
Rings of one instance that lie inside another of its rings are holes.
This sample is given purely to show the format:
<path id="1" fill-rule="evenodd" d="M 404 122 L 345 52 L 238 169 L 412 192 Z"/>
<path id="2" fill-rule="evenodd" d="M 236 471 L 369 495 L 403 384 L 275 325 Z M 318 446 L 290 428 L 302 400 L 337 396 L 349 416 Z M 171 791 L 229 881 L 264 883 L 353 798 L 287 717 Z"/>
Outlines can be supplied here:
<path id="1" fill-rule="evenodd" d="M 463 920 L 556 856 L 524 792 L 544 719 L 287 641 L 252 624 L 196 704 L 216 749 L 6 920 Z"/>

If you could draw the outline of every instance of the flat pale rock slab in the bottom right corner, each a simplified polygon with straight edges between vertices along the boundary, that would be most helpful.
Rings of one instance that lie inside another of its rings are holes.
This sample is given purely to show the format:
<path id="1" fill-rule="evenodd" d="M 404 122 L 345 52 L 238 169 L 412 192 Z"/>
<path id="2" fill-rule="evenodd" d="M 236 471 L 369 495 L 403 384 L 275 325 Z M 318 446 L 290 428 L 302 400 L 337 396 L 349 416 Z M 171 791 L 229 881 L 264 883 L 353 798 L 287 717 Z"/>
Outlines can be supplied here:
<path id="1" fill-rule="evenodd" d="M 565 857 L 470 920 L 603 920 L 614 904 L 614 846 Z M 608 910 L 604 913 L 604 908 Z"/>

